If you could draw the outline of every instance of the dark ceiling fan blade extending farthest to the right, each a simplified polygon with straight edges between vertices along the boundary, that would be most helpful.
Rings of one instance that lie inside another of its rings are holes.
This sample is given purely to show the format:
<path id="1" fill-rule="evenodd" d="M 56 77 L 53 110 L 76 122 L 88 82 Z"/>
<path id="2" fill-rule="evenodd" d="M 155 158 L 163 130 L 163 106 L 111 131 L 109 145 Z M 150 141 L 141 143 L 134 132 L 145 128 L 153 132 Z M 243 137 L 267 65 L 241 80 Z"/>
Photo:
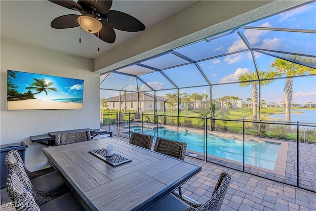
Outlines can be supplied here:
<path id="1" fill-rule="evenodd" d="M 109 10 L 102 14 L 103 21 L 115 29 L 126 32 L 140 32 L 145 30 L 145 25 L 133 16 L 117 10 Z"/>

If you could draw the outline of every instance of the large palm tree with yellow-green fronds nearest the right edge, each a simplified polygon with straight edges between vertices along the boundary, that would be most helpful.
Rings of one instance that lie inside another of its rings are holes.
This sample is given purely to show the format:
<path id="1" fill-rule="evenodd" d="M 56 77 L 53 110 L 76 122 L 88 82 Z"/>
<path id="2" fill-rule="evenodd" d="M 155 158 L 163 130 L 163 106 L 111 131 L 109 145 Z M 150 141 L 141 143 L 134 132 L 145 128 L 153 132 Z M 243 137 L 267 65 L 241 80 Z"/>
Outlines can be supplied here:
<path id="1" fill-rule="evenodd" d="M 290 55 L 285 57 L 292 61 L 303 61 L 306 60 L 302 56 L 298 55 Z M 286 77 L 293 77 L 299 76 L 304 74 L 315 74 L 316 69 L 310 68 L 307 66 L 303 66 L 300 64 L 295 64 L 293 62 L 278 59 L 276 58 L 275 61 L 271 64 L 271 68 L 275 68 L 276 71 L 273 71 L 275 77 L 280 77 L 285 75 Z M 293 78 L 286 78 L 285 85 L 284 85 L 284 98 L 285 98 L 285 121 L 291 122 L 291 102 L 293 96 Z"/>

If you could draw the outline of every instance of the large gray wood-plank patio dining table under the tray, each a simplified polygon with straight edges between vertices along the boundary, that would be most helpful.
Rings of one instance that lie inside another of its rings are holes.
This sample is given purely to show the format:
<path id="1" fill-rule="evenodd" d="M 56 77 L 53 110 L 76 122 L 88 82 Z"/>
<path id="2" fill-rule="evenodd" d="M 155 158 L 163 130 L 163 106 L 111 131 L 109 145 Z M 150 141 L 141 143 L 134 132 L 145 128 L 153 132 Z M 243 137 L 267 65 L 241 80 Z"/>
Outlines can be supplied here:
<path id="1" fill-rule="evenodd" d="M 132 161 L 113 166 L 90 150 L 114 146 Z M 201 167 L 117 139 L 42 148 L 86 210 L 145 210 L 185 183 Z"/>

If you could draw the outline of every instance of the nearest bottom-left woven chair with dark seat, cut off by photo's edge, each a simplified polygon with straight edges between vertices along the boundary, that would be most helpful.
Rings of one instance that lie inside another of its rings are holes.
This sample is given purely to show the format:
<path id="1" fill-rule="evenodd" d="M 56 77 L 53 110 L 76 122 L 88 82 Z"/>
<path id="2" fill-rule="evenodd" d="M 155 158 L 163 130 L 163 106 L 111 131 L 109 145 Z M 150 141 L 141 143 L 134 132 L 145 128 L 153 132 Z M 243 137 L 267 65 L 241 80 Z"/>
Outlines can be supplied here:
<path id="1" fill-rule="evenodd" d="M 17 211 L 84 211 L 79 201 L 70 192 L 39 206 L 30 192 L 14 199 Z"/>

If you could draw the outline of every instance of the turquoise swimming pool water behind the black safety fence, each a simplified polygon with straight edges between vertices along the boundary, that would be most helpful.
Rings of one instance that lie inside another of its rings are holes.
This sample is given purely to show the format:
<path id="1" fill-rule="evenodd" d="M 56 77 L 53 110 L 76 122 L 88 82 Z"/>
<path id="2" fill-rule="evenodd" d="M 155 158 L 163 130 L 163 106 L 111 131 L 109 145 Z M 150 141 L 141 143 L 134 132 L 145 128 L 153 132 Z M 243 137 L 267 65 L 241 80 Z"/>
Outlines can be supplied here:
<path id="1" fill-rule="evenodd" d="M 159 137 L 177 140 L 177 131 L 159 127 Z M 157 129 L 143 130 L 144 134 L 157 137 Z M 179 141 L 188 144 L 187 149 L 203 153 L 203 134 L 188 131 L 179 131 Z M 273 170 L 276 165 L 276 158 L 279 153 L 280 143 L 245 140 L 244 154 L 245 164 Z M 216 156 L 242 163 L 243 161 L 243 140 L 235 137 L 221 137 L 207 135 L 207 155 Z"/>

